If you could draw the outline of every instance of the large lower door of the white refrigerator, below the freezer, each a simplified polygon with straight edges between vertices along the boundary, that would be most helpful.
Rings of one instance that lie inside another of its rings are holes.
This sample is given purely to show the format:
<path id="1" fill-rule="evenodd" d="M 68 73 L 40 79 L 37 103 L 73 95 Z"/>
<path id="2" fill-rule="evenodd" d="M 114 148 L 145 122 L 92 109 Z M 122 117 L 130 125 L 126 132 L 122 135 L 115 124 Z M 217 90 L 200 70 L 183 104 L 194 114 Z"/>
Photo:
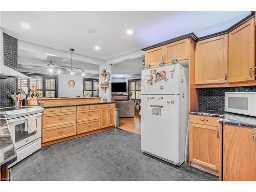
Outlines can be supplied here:
<path id="1" fill-rule="evenodd" d="M 142 96 L 141 150 L 179 162 L 179 95 Z"/>

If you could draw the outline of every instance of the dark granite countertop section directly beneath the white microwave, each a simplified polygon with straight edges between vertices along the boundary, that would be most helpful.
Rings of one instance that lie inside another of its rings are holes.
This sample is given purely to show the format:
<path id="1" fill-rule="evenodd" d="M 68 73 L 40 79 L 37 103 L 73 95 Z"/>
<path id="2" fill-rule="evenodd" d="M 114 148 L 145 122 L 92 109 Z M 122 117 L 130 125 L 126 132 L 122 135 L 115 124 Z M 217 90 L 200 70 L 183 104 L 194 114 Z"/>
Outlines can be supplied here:
<path id="1" fill-rule="evenodd" d="M 256 117 L 247 115 L 225 113 L 224 117 L 220 118 L 218 121 L 223 124 L 256 128 Z"/>

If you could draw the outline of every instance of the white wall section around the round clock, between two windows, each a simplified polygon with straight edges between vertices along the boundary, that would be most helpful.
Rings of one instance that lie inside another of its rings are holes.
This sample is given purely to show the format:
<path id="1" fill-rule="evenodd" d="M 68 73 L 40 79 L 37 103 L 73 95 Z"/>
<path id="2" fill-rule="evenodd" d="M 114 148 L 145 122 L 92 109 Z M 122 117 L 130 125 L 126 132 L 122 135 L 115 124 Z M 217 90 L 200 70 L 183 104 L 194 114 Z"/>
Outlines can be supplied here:
<path id="1" fill-rule="evenodd" d="M 75 81 L 74 87 L 69 87 L 69 80 Z M 58 75 L 58 96 L 59 97 L 76 97 L 83 95 L 83 77 L 79 75 Z"/>

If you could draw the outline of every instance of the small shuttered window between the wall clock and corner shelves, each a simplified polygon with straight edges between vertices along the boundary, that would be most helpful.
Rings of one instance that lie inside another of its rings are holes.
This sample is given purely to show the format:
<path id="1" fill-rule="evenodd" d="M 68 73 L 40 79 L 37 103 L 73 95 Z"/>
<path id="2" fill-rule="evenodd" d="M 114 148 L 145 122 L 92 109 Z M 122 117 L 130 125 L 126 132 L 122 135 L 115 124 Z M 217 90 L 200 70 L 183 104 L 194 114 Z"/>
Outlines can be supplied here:
<path id="1" fill-rule="evenodd" d="M 86 97 L 98 97 L 99 79 L 83 78 L 83 91 L 86 91 Z"/>

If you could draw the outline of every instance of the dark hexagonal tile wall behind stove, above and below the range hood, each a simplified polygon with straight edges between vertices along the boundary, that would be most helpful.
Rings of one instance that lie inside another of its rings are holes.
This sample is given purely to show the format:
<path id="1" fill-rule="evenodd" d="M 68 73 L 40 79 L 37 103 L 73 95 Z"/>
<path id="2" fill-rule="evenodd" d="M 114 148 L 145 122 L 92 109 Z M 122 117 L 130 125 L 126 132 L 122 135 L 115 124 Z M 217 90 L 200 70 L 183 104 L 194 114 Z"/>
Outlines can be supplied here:
<path id="1" fill-rule="evenodd" d="M 3 33 L 4 65 L 18 70 L 18 44 L 17 39 Z M 15 102 L 10 98 L 18 90 L 17 78 L 0 79 L 0 108 L 14 106 Z"/>

